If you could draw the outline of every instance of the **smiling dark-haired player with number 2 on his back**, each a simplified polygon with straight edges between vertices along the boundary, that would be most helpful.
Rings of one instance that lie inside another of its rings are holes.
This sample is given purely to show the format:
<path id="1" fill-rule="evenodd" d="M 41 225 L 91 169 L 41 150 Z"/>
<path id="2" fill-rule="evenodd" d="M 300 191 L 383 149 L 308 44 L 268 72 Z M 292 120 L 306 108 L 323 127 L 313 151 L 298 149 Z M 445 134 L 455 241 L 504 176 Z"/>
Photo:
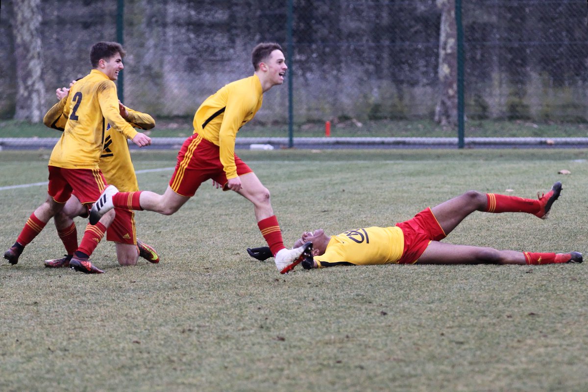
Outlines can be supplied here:
<path id="1" fill-rule="evenodd" d="M 151 138 L 133 129 L 120 114 L 113 81 L 124 68 L 125 53 L 116 42 L 98 42 L 92 46 L 92 71 L 72 86 L 65 103 L 64 116 L 68 120 L 49 158 L 47 199 L 31 214 L 14 245 L 4 253 L 9 263 L 18 263 L 25 246 L 64 208 L 71 195 L 89 206 L 105 189 L 106 181 L 98 163 L 104 149 L 106 124 L 139 147 L 151 144 Z M 82 242 L 69 262 L 73 269 L 85 273 L 103 272 L 88 259 L 114 216 L 114 211 L 109 212 L 96 225 L 86 227 Z"/>

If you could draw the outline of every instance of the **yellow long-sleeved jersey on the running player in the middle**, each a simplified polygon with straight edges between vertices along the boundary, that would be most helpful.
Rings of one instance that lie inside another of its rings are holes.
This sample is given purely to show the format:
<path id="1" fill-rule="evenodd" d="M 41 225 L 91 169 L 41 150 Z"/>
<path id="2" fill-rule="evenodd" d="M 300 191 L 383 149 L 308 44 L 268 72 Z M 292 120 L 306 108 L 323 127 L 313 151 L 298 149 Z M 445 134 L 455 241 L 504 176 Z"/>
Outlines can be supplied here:
<path id="1" fill-rule="evenodd" d="M 255 116 L 263 102 L 257 75 L 229 83 L 205 99 L 194 115 L 194 133 L 219 146 L 220 163 L 227 179 L 237 176 L 235 138 L 239 129 Z"/>

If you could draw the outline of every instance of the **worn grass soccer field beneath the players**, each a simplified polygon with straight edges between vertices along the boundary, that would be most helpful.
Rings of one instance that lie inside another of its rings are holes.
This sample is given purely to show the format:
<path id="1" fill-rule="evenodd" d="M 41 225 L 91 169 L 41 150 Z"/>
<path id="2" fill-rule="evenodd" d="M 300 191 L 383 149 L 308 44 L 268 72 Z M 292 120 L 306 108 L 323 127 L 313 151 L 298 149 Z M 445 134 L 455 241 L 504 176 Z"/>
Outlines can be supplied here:
<path id="1" fill-rule="evenodd" d="M 409 219 L 466 190 L 535 197 L 550 219 L 474 213 L 445 240 L 588 255 L 584 150 L 238 151 L 272 192 L 286 244 Z M 0 234 L 11 246 L 46 197 L 49 152 L 0 152 Z M 163 192 L 175 152 L 133 151 Z M 560 175 L 559 170 L 570 170 Z M 136 213 L 161 263 L 119 267 L 105 240 L 85 275 L 52 222 L 0 264 L 2 391 L 582 391 L 588 265 L 387 265 L 280 275 L 250 203 L 202 185 L 179 212 Z M 78 221 L 78 237 L 85 220 Z M 2 249 L 2 250 L 4 250 Z"/>

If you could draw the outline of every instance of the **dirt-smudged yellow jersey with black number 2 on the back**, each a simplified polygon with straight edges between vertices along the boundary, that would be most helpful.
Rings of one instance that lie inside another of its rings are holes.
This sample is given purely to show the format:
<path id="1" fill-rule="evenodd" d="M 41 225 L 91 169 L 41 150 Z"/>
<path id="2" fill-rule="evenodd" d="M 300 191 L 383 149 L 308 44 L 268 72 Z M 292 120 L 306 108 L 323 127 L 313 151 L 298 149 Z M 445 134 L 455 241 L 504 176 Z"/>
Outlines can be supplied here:
<path id="1" fill-rule="evenodd" d="M 67 122 L 49 158 L 50 166 L 98 169 L 108 124 L 126 139 L 138 133 L 121 117 L 115 83 L 96 69 L 77 81 L 65 100 Z"/>

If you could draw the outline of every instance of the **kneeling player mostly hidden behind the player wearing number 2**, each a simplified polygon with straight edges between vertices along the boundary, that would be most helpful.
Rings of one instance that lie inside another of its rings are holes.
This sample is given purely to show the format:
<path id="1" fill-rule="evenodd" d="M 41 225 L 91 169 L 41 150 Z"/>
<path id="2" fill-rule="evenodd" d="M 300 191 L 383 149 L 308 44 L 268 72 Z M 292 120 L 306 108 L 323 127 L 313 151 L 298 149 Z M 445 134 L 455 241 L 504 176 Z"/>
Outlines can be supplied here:
<path id="1" fill-rule="evenodd" d="M 63 109 L 69 90 L 75 82 L 72 81 L 69 88 L 56 90 L 56 95 L 60 100 L 49 109 L 43 119 L 43 122 L 49 128 L 64 130 L 67 118 L 63 115 Z M 122 118 L 130 123 L 133 128 L 146 130 L 155 126 L 155 120 L 153 120 L 152 116 L 136 112 L 120 102 L 119 112 Z M 104 140 L 105 145 L 100 157 L 99 167 L 106 182 L 126 191 L 139 190 L 125 136 L 113 130 L 111 126 L 106 126 Z M 106 239 L 116 243 L 116 258 L 119 264 L 122 266 L 135 265 L 139 256 L 148 260 L 148 262 L 159 263 L 159 256 L 155 249 L 136 237 L 135 213 L 128 209 L 116 209 L 115 212 L 116 215 L 112 225 L 106 230 Z M 54 216 L 57 233 L 64 243 L 67 254 L 61 259 L 45 260 L 45 267 L 59 268 L 69 266 L 69 260 L 72 259 L 73 253 L 78 249 L 78 234 L 74 223 L 74 217 L 76 216 L 87 217 L 88 209 L 79 202 L 77 197 L 72 195 L 65 203 L 64 209 Z"/>

